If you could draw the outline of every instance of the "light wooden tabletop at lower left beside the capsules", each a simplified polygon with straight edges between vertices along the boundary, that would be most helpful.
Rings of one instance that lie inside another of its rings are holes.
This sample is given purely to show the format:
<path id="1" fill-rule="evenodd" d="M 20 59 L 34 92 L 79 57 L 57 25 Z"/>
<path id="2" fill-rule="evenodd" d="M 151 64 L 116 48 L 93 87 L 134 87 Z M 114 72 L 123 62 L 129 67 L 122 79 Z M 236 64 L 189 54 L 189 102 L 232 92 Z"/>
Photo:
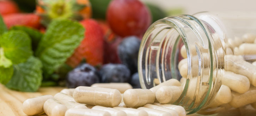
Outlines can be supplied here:
<path id="1" fill-rule="evenodd" d="M 62 87 L 39 88 L 37 92 L 20 92 L 6 88 L 0 84 L 0 116 L 26 116 L 22 111 L 22 103 L 28 98 L 41 95 L 55 95 Z M 45 114 L 39 116 L 47 116 Z"/>

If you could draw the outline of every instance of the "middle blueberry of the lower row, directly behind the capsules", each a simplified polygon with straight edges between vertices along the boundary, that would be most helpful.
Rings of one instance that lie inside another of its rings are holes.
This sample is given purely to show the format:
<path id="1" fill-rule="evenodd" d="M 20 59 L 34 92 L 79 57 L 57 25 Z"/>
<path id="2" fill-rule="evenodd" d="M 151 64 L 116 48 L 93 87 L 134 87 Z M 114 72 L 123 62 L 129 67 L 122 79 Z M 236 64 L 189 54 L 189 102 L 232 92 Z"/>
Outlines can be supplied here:
<path id="1" fill-rule="evenodd" d="M 130 71 L 123 64 L 105 64 L 99 73 L 102 83 L 125 83 L 130 79 Z"/>

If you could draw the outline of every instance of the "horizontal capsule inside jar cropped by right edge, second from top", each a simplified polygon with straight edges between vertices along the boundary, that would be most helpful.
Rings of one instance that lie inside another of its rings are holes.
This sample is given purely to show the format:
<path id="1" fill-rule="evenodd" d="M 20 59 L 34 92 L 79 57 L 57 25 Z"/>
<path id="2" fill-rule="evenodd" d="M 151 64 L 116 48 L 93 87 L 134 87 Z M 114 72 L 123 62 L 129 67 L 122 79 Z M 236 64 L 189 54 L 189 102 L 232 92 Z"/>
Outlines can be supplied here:
<path id="1" fill-rule="evenodd" d="M 256 54 L 256 44 L 241 44 L 234 48 L 234 55 Z"/>

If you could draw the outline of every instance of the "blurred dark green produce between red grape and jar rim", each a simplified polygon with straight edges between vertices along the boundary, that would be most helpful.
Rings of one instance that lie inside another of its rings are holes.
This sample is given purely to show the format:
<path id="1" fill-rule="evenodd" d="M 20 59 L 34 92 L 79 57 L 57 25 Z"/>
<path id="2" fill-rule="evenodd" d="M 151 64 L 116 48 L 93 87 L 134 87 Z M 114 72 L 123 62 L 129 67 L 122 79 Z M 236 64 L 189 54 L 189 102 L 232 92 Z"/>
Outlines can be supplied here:
<path id="1" fill-rule="evenodd" d="M 167 17 L 166 13 L 158 6 L 149 4 L 149 3 L 146 5 L 147 5 L 148 9 L 150 9 L 150 12 L 152 15 L 152 22 L 155 22 L 159 19 L 163 19 L 163 18 Z"/>

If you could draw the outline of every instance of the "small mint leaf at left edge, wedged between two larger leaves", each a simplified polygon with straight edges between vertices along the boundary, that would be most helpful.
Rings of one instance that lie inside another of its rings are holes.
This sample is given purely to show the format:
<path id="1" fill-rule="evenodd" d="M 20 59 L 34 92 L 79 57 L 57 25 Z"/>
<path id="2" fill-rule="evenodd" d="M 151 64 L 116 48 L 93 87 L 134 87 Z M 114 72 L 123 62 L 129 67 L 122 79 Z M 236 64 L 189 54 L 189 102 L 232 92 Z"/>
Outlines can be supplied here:
<path id="1" fill-rule="evenodd" d="M 0 83 L 6 84 L 12 78 L 13 66 L 5 68 L 0 66 Z"/>

